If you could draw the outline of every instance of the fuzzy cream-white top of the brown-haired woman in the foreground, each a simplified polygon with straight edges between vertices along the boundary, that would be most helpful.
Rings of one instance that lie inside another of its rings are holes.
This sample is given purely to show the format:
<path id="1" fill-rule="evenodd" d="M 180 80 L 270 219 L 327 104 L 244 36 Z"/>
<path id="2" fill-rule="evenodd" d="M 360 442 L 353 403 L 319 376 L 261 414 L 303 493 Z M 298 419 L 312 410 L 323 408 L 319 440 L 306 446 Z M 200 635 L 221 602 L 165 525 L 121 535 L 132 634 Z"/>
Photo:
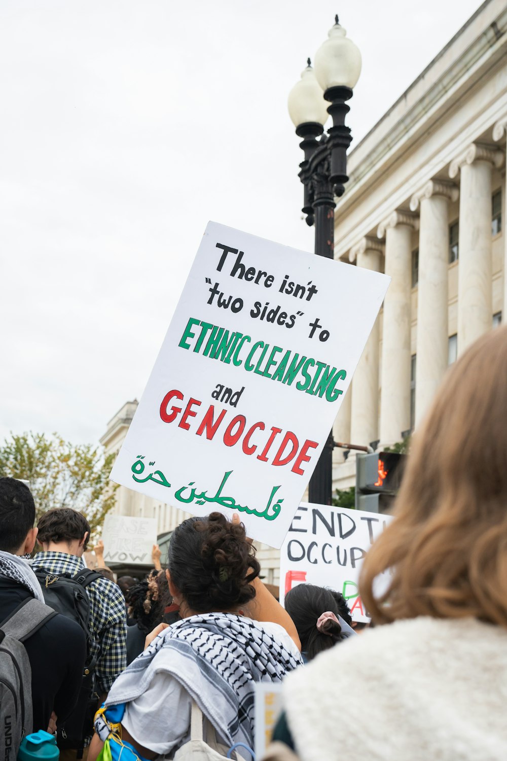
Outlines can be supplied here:
<path id="1" fill-rule="evenodd" d="M 284 703 L 302 761 L 506 761 L 507 630 L 380 626 L 289 674 Z"/>

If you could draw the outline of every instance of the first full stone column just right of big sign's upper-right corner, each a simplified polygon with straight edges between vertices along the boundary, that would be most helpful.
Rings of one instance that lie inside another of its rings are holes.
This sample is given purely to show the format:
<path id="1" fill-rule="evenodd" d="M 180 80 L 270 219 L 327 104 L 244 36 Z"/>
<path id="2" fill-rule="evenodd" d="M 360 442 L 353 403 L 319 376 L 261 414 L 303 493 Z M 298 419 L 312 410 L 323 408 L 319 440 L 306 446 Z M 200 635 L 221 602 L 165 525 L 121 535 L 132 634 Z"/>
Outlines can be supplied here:
<path id="1" fill-rule="evenodd" d="M 382 330 L 381 446 L 401 441 L 401 431 L 410 428 L 411 238 L 418 226 L 417 217 L 393 212 L 377 231 L 385 236 L 385 274 L 391 277 Z"/>

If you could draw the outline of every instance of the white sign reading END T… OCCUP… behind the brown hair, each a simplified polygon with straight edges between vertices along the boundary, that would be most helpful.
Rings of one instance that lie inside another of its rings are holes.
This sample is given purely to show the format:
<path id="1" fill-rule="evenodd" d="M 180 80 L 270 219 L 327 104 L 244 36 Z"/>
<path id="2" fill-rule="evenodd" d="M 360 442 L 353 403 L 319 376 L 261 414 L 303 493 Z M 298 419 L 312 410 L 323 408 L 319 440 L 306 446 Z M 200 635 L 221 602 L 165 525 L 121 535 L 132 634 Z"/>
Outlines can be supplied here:
<path id="1" fill-rule="evenodd" d="M 280 550 L 280 603 L 296 584 L 341 592 L 354 621 L 369 621 L 358 582 L 363 558 L 390 515 L 302 502 Z M 378 590 L 388 573 L 377 580 Z M 322 611 L 324 613 L 324 611 Z"/>

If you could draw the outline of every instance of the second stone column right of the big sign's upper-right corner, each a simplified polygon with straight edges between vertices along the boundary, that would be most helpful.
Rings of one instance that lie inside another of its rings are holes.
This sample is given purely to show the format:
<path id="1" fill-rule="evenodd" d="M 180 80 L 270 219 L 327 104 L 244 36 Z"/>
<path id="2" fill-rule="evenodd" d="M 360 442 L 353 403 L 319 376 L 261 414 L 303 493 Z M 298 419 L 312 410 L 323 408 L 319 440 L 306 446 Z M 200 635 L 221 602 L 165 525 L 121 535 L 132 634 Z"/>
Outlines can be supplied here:
<path id="1" fill-rule="evenodd" d="M 429 180 L 412 196 L 420 206 L 419 280 L 417 283 L 416 427 L 426 414 L 448 360 L 448 202 L 458 199 L 452 183 Z"/>

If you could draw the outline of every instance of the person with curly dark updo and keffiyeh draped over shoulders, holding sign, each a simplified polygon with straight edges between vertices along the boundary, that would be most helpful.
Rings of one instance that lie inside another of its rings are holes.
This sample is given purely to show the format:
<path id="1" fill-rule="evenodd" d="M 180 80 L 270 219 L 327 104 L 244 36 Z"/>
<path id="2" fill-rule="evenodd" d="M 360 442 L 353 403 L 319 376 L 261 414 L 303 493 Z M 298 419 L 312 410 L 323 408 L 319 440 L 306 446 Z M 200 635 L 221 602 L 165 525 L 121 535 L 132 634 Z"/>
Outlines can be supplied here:
<path id="1" fill-rule="evenodd" d="M 236 743 L 253 747 L 255 682 L 279 682 L 302 664 L 296 627 L 259 572 L 237 515 L 176 528 L 166 576 L 182 620 L 157 626 L 112 685 L 88 761 L 173 758 L 191 728 L 194 736 L 195 715 L 223 755 Z"/>

